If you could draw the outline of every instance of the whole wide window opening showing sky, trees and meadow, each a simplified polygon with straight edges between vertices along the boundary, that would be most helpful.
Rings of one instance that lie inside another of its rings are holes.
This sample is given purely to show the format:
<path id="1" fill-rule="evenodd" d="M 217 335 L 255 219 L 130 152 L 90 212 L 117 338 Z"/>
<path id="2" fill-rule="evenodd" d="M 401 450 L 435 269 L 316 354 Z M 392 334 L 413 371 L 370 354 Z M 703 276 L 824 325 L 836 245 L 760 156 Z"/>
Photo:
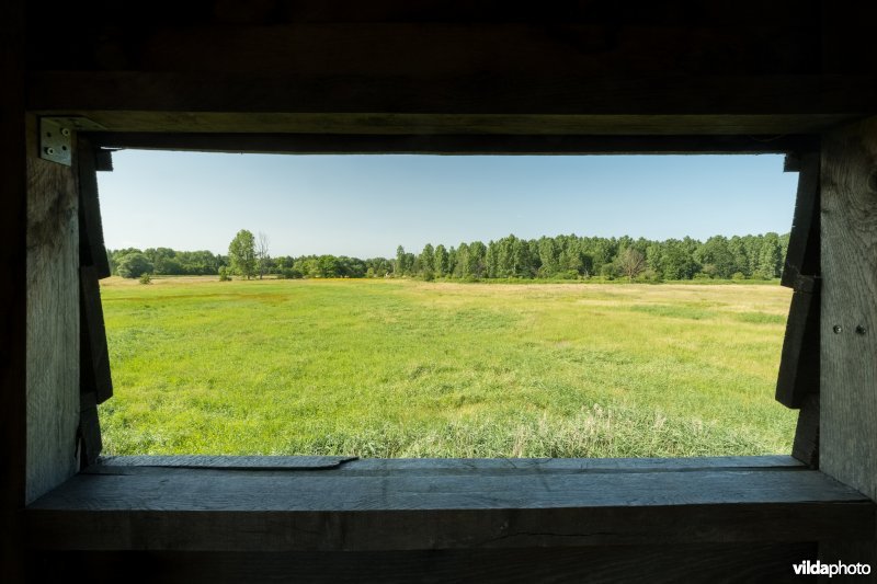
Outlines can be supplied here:
<path id="1" fill-rule="evenodd" d="M 104 454 L 790 450 L 781 157 L 114 162 Z"/>

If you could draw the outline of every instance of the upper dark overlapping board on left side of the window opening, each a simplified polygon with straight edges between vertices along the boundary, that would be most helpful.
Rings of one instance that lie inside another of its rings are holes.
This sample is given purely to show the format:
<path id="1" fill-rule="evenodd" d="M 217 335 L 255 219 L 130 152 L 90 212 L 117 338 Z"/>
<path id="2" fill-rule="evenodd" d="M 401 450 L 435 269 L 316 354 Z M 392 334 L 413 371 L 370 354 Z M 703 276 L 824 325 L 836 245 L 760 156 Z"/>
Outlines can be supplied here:
<path id="1" fill-rule="evenodd" d="M 103 244 L 103 222 L 98 197 L 98 161 L 94 146 L 88 138 L 78 140 L 77 168 L 79 173 L 79 261 L 83 266 L 94 266 L 98 278 L 110 277 L 110 261 Z"/>

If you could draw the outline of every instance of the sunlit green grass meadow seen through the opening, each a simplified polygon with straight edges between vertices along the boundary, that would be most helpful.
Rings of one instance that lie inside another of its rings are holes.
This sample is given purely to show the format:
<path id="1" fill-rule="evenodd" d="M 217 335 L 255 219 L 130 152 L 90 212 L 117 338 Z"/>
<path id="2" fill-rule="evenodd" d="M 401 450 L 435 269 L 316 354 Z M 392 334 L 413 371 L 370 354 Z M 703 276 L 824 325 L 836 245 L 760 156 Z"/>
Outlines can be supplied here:
<path id="1" fill-rule="evenodd" d="M 776 285 L 110 278 L 104 454 L 787 453 Z"/>

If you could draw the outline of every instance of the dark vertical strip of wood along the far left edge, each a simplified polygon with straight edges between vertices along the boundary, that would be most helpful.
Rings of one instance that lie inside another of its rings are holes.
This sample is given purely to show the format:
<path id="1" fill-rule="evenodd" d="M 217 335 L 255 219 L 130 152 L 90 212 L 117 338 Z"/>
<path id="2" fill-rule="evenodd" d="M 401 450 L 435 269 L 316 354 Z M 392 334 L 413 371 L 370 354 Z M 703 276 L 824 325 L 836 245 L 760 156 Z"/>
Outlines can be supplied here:
<path id="1" fill-rule="evenodd" d="M 23 582 L 27 436 L 24 1 L 0 2 L 0 581 Z"/>

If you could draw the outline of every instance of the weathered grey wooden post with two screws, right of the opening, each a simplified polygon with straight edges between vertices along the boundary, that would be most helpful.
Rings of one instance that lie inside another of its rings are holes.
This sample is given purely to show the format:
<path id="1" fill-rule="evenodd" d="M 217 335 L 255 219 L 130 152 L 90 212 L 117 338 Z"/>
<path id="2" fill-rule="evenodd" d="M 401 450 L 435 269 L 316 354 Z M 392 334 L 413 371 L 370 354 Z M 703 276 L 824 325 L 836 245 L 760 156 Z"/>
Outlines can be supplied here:
<path id="1" fill-rule="evenodd" d="M 820 468 L 872 499 L 877 499 L 875 298 L 877 119 L 872 118 L 823 138 L 820 399 Z"/>

